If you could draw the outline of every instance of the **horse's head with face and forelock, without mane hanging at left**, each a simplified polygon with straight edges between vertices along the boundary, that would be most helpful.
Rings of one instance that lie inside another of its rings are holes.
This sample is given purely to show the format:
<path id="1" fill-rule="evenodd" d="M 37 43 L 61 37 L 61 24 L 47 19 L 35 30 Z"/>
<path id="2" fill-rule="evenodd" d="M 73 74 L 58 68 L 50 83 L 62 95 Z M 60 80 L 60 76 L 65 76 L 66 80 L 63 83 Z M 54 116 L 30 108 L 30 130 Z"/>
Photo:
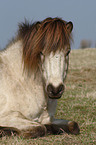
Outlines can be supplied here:
<path id="1" fill-rule="evenodd" d="M 61 19 L 55 19 L 53 24 L 47 26 L 44 37 L 46 49 L 41 53 L 41 70 L 45 91 L 51 99 L 60 98 L 65 89 L 72 29 L 72 22 L 64 23 Z"/>

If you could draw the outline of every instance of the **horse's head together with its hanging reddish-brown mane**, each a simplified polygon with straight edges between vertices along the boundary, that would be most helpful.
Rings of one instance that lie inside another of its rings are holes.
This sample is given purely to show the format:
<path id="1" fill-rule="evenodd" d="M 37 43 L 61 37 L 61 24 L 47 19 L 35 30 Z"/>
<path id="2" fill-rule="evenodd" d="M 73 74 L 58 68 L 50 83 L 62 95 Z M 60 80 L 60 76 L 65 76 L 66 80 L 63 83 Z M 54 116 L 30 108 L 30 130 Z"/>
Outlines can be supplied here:
<path id="1" fill-rule="evenodd" d="M 19 28 L 25 67 L 41 70 L 45 91 L 52 99 L 60 98 L 64 92 L 72 29 L 72 22 L 60 18 L 47 18 Z"/>

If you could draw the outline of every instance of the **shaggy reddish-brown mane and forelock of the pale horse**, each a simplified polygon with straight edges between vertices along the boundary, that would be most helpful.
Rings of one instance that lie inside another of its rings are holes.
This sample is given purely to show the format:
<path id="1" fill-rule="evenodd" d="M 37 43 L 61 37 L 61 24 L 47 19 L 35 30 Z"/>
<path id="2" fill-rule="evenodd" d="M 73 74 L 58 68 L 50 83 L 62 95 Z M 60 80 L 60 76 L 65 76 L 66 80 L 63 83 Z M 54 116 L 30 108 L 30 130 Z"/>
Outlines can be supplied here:
<path id="1" fill-rule="evenodd" d="M 47 18 L 33 24 L 28 22 L 19 25 L 18 36 L 23 40 L 23 60 L 25 68 L 36 70 L 40 53 L 65 50 L 70 47 L 70 33 L 66 21 L 60 18 Z"/>

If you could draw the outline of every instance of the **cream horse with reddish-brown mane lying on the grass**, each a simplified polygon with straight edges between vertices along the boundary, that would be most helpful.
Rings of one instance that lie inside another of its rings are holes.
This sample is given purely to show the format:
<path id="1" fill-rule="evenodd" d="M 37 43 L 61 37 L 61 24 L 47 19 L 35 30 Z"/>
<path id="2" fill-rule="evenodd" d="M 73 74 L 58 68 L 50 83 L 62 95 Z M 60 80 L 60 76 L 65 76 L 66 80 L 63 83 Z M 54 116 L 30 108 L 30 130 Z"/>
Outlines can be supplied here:
<path id="1" fill-rule="evenodd" d="M 65 90 L 73 23 L 48 17 L 19 23 L 0 51 L 0 137 L 79 134 L 75 121 L 55 119 Z"/>

